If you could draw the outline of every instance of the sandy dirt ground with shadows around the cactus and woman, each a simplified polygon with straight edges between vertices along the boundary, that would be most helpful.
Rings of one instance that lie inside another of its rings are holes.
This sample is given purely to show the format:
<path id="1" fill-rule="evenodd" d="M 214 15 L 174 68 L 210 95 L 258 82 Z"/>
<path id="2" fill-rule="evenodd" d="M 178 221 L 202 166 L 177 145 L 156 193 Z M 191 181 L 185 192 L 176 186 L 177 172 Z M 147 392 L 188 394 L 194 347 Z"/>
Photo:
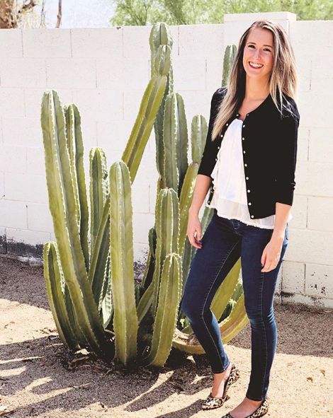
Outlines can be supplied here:
<path id="1" fill-rule="evenodd" d="M 124 371 L 67 354 L 48 306 L 43 267 L 0 257 L 0 416 L 40 418 L 222 417 L 242 401 L 250 373 L 249 324 L 227 354 L 241 377 L 222 407 L 201 410 L 212 374 L 205 356 L 172 351 L 163 369 Z M 269 398 L 274 418 L 333 416 L 333 310 L 278 305 Z M 1 412 L 2 411 L 2 412 Z"/>

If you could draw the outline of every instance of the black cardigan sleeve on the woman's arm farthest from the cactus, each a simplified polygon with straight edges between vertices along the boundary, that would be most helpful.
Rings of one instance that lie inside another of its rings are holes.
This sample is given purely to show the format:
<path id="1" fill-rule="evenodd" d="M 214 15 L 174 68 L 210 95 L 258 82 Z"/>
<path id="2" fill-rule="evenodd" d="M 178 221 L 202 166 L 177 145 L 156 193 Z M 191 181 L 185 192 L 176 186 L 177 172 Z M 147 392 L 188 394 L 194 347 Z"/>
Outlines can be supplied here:
<path id="1" fill-rule="evenodd" d="M 295 190 L 295 168 L 297 158 L 298 126 L 300 115 L 295 102 L 293 104 L 295 115 L 284 117 L 282 129 L 278 139 L 278 159 L 276 173 L 276 202 L 293 204 Z"/>

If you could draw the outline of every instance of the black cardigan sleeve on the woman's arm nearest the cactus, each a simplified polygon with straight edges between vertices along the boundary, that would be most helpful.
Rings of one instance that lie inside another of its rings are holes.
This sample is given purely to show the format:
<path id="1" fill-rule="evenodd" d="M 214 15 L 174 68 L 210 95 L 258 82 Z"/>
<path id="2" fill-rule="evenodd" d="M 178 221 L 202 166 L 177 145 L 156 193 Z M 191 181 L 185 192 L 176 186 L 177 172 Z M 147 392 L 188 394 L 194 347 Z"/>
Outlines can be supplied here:
<path id="1" fill-rule="evenodd" d="M 215 166 L 215 154 L 217 151 L 216 144 L 212 141 L 213 125 L 215 122 L 215 117 L 218 115 L 218 106 L 220 105 L 220 100 L 224 98 L 225 92 L 226 88 L 218 88 L 218 90 L 213 94 L 212 100 L 210 101 L 210 117 L 207 137 L 205 141 L 205 149 L 203 150 L 203 156 L 198 168 L 198 174 L 207 175 L 210 178 L 212 178 L 210 174 L 213 172 L 213 168 Z"/>

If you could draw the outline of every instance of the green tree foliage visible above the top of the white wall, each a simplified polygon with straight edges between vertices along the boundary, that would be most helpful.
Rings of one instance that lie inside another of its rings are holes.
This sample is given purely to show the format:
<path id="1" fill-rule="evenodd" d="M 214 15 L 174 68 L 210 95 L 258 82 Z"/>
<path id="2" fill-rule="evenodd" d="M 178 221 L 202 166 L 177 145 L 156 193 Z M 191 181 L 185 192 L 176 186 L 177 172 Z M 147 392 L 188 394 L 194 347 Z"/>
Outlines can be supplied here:
<path id="1" fill-rule="evenodd" d="M 289 11 L 297 20 L 332 20 L 331 0 L 113 0 L 111 25 L 195 25 L 223 23 L 227 13 Z"/>

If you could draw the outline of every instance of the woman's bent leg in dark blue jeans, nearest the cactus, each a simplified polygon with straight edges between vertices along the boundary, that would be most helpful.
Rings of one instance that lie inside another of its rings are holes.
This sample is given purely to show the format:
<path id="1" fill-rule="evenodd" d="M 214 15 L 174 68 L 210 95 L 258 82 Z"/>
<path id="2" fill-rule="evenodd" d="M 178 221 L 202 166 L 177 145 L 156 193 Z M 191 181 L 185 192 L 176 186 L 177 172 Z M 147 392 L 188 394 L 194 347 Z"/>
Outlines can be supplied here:
<path id="1" fill-rule="evenodd" d="M 213 373 L 221 373 L 230 361 L 220 336 L 218 320 L 210 310 L 215 292 L 240 257 L 241 236 L 232 230 L 230 220 L 214 211 L 196 250 L 185 284 L 181 310 L 208 356 Z"/>

